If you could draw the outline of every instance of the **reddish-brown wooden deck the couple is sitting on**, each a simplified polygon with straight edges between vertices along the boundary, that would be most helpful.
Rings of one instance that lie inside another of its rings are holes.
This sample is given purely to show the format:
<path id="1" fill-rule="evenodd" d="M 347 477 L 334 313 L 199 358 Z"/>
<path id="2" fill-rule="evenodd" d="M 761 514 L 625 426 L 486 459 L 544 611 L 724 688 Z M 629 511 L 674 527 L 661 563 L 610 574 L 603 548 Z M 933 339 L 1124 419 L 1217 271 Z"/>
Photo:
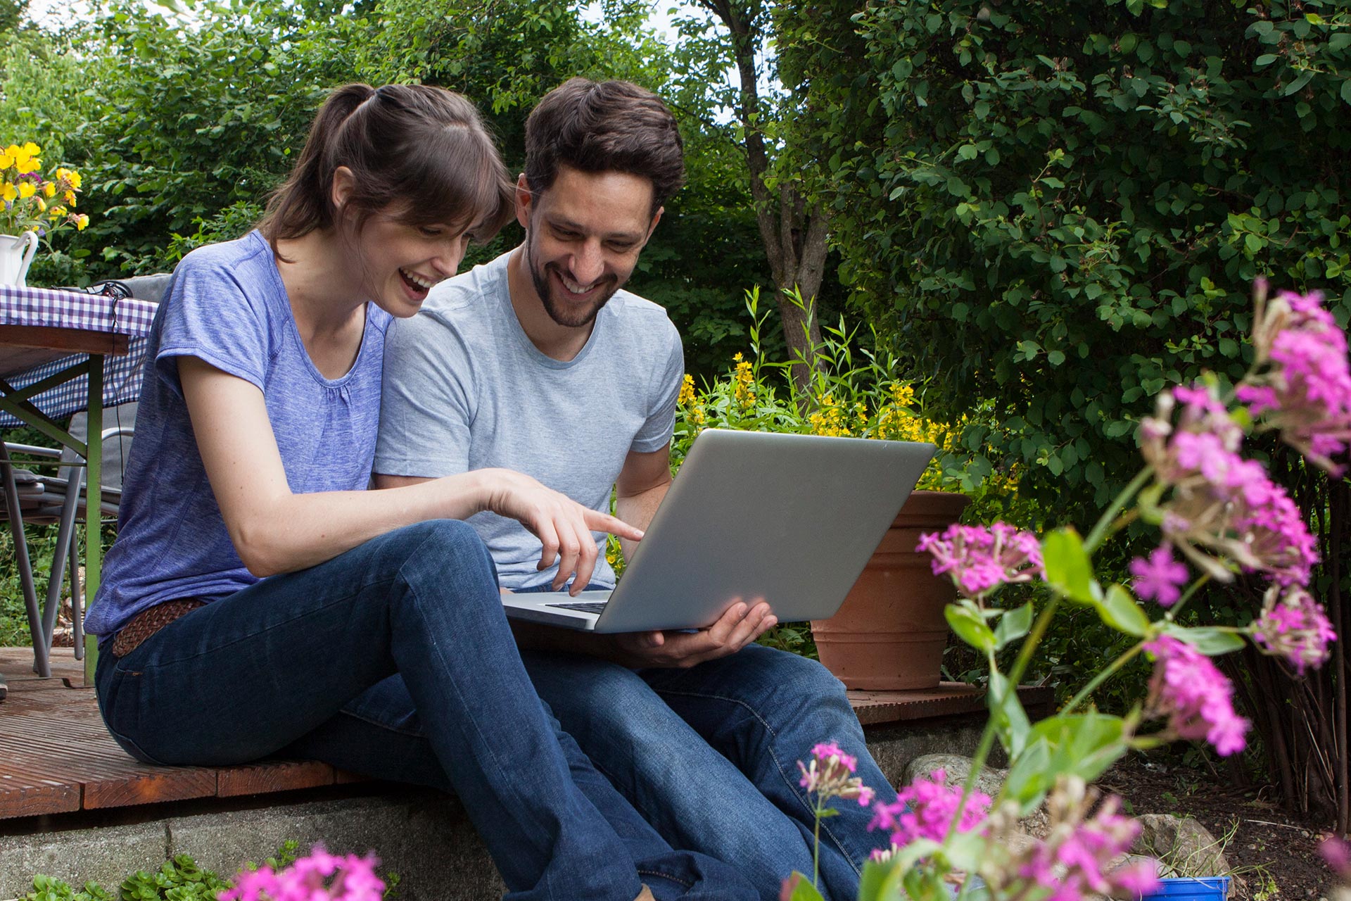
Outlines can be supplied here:
<path id="1" fill-rule="evenodd" d="M 0 648 L 9 697 L 0 701 L 0 819 L 72 813 L 158 801 L 239 797 L 312 789 L 363 777 L 317 761 L 250 766 L 151 766 L 128 756 L 103 727 L 93 688 L 69 650 L 51 678 L 32 674 L 31 648 Z M 944 682 L 932 690 L 851 692 L 865 725 L 984 713 L 977 689 Z M 1023 689 L 1025 705 L 1048 704 L 1050 689 Z"/>

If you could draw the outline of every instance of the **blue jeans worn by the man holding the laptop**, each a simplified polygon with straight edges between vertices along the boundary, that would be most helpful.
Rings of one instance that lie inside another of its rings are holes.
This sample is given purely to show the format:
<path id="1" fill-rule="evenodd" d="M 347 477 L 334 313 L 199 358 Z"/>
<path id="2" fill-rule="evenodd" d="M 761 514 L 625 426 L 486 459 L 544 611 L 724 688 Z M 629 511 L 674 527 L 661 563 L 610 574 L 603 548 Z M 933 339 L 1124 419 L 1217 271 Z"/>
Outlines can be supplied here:
<path id="1" fill-rule="evenodd" d="M 816 661 L 759 644 L 684 670 L 542 651 L 521 659 L 563 729 L 658 832 L 735 863 L 766 901 L 793 870 L 812 874 L 815 819 L 797 761 L 813 746 L 836 742 L 865 785 L 896 797 L 844 685 Z M 889 840 L 867 829 L 869 808 L 831 804 L 840 816 L 821 821 L 820 887 L 852 901 L 863 860 Z"/>

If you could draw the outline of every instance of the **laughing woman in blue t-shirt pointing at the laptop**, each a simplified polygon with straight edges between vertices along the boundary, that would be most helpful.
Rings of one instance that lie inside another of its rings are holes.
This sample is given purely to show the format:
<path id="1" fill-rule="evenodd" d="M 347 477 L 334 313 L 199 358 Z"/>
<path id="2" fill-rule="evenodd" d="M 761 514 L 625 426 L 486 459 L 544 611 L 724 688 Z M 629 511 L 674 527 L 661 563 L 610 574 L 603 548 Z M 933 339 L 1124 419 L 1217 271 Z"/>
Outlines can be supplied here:
<path id="1" fill-rule="evenodd" d="M 639 532 L 505 470 L 365 490 L 385 327 L 509 215 L 507 172 L 463 97 L 349 85 L 259 230 L 184 258 L 88 623 L 100 709 L 147 762 L 289 747 L 453 789 L 511 898 L 628 901 L 651 897 L 644 882 L 657 897 L 755 897 L 725 865 L 662 843 L 558 729 L 459 520 L 520 520 L 543 539 L 540 566 L 558 557 L 578 585 L 590 530 Z M 393 678 L 417 709 L 390 724 Z M 419 743 L 439 771 L 401 766 L 427 759 Z"/>

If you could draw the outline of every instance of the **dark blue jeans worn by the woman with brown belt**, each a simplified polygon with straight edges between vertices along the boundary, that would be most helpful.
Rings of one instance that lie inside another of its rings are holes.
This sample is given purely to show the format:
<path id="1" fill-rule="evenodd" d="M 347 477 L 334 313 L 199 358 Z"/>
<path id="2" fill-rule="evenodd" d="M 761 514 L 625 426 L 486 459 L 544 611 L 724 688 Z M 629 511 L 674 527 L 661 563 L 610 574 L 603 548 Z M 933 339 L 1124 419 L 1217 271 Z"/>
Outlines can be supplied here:
<path id="1" fill-rule="evenodd" d="M 734 867 L 673 851 L 558 728 L 461 521 L 401 528 L 193 611 L 123 658 L 103 654 L 97 688 L 108 729 L 142 761 L 286 751 L 454 790 L 513 901 L 630 901 L 642 882 L 658 898 L 758 897 Z"/>

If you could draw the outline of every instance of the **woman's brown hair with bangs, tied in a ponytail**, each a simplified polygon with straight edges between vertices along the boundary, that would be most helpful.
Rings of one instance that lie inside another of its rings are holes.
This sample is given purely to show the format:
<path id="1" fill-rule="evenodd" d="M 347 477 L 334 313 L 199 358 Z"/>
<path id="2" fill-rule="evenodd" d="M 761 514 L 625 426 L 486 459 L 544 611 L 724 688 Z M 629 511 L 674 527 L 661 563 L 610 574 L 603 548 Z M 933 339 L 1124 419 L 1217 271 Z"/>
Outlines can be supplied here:
<path id="1" fill-rule="evenodd" d="M 512 181 L 469 100 L 428 85 L 343 85 L 319 108 L 296 168 L 258 223 L 278 258 L 278 240 L 336 224 L 339 166 L 354 176 L 345 205 L 358 230 L 393 205 L 407 224 L 444 224 L 482 242 L 512 216 Z"/>

